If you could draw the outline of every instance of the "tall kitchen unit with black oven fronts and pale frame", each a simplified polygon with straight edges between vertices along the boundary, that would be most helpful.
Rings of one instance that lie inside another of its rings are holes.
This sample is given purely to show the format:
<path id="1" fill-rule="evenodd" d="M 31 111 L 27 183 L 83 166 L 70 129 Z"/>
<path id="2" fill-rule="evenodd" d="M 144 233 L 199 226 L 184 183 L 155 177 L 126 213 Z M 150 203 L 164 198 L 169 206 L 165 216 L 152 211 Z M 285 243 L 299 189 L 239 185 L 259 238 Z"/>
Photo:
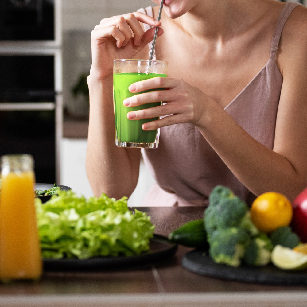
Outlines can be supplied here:
<path id="1" fill-rule="evenodd" d="M 32 154 L 46 183 L 60 177 L 61 5 L 0 0 L 0 155 Z"/>

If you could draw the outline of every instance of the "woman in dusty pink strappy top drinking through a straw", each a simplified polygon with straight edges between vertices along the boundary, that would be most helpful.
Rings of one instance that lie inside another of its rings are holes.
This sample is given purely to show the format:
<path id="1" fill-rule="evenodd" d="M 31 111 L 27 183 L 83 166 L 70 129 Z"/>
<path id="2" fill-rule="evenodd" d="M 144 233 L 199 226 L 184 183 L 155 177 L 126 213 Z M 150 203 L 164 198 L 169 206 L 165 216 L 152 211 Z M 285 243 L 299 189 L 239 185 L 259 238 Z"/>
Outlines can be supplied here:
<path id="1" fill-rule="evenodd" d="M 130 120 L 170 115 L 142 126 L 161 127 L 159 148 L 142 152 L 159 185 L 145 204 L 204 205 L 218 184 L 248 203 L 267 191 L 292 201 L 307 185 L 306 8 L 275 0 L 165 0 L 161 22 L 151 12 L 103 19 L 91 33 L 87 174 L 94 194 L 130 196 L 137 185 L 141 151 L 115 146 L 112 61 L 148 59 L 153 27 L 161 26 L 156 58 L 169 62 L 168 78 L 129 90 L 165 91 L 124 101 L 167 102 L 130 112 Z"/>

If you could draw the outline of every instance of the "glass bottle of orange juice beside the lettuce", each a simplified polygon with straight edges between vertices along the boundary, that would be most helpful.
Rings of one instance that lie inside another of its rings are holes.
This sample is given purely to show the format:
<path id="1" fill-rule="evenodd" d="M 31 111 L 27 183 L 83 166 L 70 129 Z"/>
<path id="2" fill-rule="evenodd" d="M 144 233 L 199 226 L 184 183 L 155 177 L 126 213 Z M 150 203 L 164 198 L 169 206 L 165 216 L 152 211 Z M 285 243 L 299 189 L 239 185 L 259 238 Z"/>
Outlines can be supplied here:
<path id="1" fill-rule="evenodd" d="M 37 279 L 42 273 L 34 208 L 33 157 L 1 157 L 0 279 Z"/>

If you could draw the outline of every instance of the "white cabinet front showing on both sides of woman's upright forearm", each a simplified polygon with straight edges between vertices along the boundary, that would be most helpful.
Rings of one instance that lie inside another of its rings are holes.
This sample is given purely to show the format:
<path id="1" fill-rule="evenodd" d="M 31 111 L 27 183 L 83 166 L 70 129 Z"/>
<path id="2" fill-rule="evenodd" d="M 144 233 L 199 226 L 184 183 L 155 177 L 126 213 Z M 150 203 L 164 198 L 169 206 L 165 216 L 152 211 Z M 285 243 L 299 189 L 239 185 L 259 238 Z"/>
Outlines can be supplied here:
<path id="1" fill-rule="evenodd" d="M 86 139 L 63 138 L 61 142 L 61 185 L 71 187 L 79 196 L 93 196 L 85 169 Z M 128 205 L 138 207 L 155 180 L 141 161 L 138 185 L 128 200 Z"/>

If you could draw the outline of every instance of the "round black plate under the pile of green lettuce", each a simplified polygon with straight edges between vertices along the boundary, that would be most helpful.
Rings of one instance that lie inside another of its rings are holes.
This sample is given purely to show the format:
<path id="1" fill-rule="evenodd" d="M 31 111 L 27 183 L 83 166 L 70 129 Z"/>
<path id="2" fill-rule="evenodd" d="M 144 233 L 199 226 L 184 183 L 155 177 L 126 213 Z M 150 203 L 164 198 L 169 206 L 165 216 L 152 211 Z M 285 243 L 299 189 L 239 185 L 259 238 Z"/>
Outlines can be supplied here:
<path id="1" fill-rule="evenodd" d="M 125 266 L 137 266 L 164 260 L 177 251 L 177 244 L 170 242 L 160 235 L 153 235 L 150 239 L 149 251 L 134 256 L 95 257 L 79 259 L 43 259 L 45 271 L 80 271 L 80 270 L 108 270 Z"/>

